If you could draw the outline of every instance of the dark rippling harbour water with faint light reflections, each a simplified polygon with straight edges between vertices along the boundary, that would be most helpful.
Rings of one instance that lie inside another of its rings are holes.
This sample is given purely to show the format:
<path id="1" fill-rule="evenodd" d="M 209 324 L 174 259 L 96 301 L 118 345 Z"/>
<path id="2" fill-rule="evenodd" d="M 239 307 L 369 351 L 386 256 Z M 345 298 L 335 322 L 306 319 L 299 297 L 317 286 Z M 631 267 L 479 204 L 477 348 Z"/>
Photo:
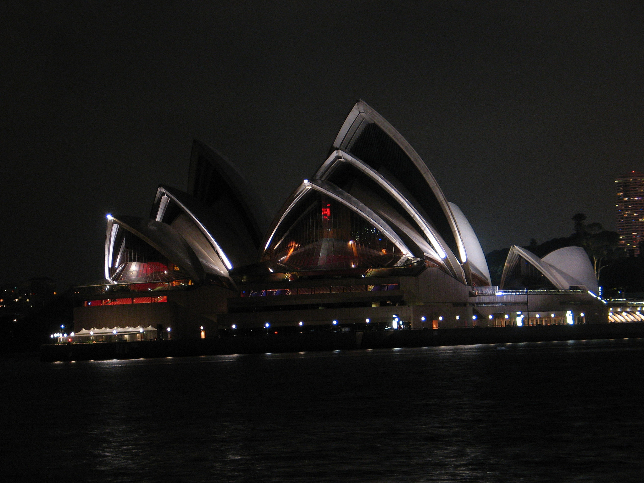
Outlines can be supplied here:
<path id="1" fill-rule="evenodd" d="M 644 340 L 0 361 L 0 480 L 642 482 Z"/>

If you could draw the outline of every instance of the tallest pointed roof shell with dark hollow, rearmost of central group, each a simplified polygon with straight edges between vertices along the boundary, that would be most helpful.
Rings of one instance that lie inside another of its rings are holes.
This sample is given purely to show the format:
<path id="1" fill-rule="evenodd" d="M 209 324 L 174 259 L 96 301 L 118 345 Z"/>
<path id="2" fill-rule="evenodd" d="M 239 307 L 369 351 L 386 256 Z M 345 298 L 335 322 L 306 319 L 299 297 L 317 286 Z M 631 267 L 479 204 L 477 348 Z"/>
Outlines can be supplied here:
<path id="1" fill-rule="evenodd" d="M 388 178 L 415 204 L 445 240 L 461 263 L 467 254 L 459 227 L 438 183 L 421 156 L 403 136 L 366 102 L 359 100 L 337 134 L 333 149 L 363 160 Z M 429 188 L 429 189 L 428 189 Z"/>

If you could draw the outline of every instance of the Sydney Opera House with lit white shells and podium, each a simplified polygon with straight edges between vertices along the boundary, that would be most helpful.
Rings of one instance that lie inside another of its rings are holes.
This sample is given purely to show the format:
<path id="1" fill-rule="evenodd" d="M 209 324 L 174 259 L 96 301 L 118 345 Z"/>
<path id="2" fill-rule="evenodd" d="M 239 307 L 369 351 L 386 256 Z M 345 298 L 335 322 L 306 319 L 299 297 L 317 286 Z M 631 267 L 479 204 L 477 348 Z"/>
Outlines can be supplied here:
<path id="1" fill-rule="evenodd" d="M 187 189 L 108 215 L 104 279 L 77 288 L 79 341 L 603 323 L 580 247 L 512 247 L 500 286 L 468 219 L 413 147 L 359 101 L 272 221 L 195 141 Z"/>

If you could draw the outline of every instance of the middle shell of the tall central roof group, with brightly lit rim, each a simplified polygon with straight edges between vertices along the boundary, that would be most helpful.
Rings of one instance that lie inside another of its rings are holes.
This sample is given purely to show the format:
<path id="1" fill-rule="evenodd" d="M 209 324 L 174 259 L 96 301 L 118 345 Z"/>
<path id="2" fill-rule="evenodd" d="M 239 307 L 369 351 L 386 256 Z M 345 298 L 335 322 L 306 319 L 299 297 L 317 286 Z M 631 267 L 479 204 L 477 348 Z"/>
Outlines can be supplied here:
<path id="1" fill-rule="evenodd" d="M 361 175 L 365 176 L 372 182 L 375 182 L 382 192 L 388 195 L 393 204 L 399 205 L 399 207 L 408 215 L 408 219 L 410 218 L 410 221 L 414 222 L 413 224 L 415 224 L 416 227 L 408 225 L 404 220 L 401 220 L 401 223 L 396 222 L 392 217 L 388 217 L 390 223 L 393 223 L 398 229 L 406 232 L 406 234 L 408 234 L 408 236 L 412 236 L 412 238 L 422 238 L 422 235 L 424 235 L 425 240 L 422 240 L 421 245 L 428 245 L 428 249 L 430 251 L 428 253 L 427 249 L 425 249 L 425 256 L 438 261 L 440 265 L 443 265 L 448 272 L 451 272 L 451 274 L 457 276 L 457 278 L 463 278 L 463 272 L 459 266 L 459 261 L 453 256 L 450 248 L 446 245 L 444 240 L 442 240 L 442 237 L 436 229 L 425 220 L 424 216 L 422 216 L 416 207 L 408 200 L 408 198 L 406 198 L 405 194 L 401 193 L 401 191 L 393 185 L 390 180 L 365 164 L 365 162 L 355 156 L 345 153 L 341 149 L 336 149 L 336 151 L 331 153 L 322 166 L 319 167 L 316 173 L 316 178 L 321 178 L 323 180 L 330 180 L 334 176 L 340 176 L 342 178 L 345 176 L 345 173 L 341 171 L 341 167 L 346 164 L 355 167 L 357 172 L 361 173 Z M 339 174 L 336 175 L 338 172 Z M 417 230 L 419 231 L 419 234 L 413 236 L 413 233 L 409 233 L 410 230 Z"/>

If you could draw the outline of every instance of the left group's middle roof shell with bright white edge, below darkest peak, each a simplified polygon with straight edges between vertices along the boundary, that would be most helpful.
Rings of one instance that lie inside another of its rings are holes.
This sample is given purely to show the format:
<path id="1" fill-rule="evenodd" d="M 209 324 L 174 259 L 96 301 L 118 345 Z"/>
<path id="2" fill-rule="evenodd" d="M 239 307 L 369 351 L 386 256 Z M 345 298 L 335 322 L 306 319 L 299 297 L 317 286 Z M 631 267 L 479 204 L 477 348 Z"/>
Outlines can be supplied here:
<path id="1" fill-rule="evenodd" d="M 180 209 L 180 213 L 176 213 L 173 205 Z M 191 230 L 189 225 L 180 226 L 186 225 L 185 221 L 182 222 L 181 213 L 185 214 L 192 221 L 202 236 L 194 233 L 191 234 L 193 230 Z M 220 227 L 218 227 L 218 223 L 214 220 L 213 213 L 196 200 L 196 198 L 178 189 L 169 186 L 160 186 L 156 191 L 151 218 L 173 226 L 193 248 L 204 267 L 211 267 L 214 269 L 211 271 L 222 274 L 223 276 L 228 275 L 228 270 L 232 269 L 231 260 L 227 256 L 227 251 L 220 246 L 220 243 L 213 236 L 213 234 L 221 232 Z M 240 246 L 234 242 L 234 238 L 229 240 L 231 237 L 225 236 L 225 232 L 222 235 L 224 239 L 223 244 L 232 244 L 232 249 Z M 200 240 L 200 238 L 205 238 L 207 243 L 204 243 L 204 240 Z M 236 253 L 233 252 L 233 255 L 236 255 Z M 249 254 L 249 256 L 252 255 Z M 235 260 L 238 257 L 232 256 L 231 258 Z M 239 260 L 240 263 L 238 265 L 241 265 L 243 261 L 245 260 Z"/>

